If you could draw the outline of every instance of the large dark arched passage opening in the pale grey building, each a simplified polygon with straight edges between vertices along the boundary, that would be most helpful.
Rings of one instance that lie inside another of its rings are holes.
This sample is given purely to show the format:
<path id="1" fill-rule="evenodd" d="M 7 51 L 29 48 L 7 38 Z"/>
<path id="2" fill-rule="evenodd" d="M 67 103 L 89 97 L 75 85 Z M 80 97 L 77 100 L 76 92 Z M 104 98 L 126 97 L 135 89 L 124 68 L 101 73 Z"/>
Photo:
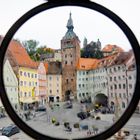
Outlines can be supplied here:
<path id="1" fill-rule="evenodd" d="M 95 105 L 97 104 L 99 106 L 108 107 L 108 97 L 103 93 L 99 93 L 94 98 L 94 104 Z"/>

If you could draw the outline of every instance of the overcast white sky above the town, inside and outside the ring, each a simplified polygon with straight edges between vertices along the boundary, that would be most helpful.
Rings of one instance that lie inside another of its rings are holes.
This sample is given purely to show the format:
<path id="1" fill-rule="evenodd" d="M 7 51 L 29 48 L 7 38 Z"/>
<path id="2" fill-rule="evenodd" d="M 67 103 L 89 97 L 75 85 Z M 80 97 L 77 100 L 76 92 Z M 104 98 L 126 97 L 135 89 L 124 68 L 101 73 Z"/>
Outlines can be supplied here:
<path id="1" fill-rule="evenodd" d="M 131 28 L 140 41 L 139 0 L 92 0 L 115 12 Z M 31 8 L 44 3 L 44 0 L 1 0 L 0 35 L 5 35 L 9 28 Z M 53 49 L 61 48 L 60 41 L 65 35 L 69 13 L 72 13 L 74 32 L 81 41 L 86 37 L 88 43 L 100 39 L 102 48 L 107 44 L 118 45 L 124 50 L 131 49 L 130 43 L 120 28 L 106 16 L 82 7 L 59 7 L 44 11 L 27 21 L 15 34 L 21 41 L 33 39 L 40 46 Z"/>

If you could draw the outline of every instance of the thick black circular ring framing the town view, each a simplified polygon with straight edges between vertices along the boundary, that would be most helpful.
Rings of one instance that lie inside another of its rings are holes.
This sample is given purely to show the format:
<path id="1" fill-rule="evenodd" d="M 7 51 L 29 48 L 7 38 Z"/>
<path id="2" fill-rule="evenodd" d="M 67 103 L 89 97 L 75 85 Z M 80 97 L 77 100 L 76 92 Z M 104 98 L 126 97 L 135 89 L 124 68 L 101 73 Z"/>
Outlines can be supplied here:
<path id="1" fill-rule="evenodd" d="M 31 17 L 39 14 L 40 12 L 43 12 L 51 8 L 57 8 L 57 7 L 62 7 L 62 6 L 78 6 L 78 7 L 88 8 L 90 10 L 97 11 L 105 15 L 106 17 L 110 18 L 113 22 L 115 22 L 120 27 L 120 29 L 126 35 L 127 39 L 129 40 L 133 48 L 133 52 L 135 54 L 135 61 L 136 61 L 136 66 L 137 66 L 136 67 L 137 69 L 136 85 L 135 85 L 134 94 L 133 94 L 133 97 L 131 99 L 129 106 L 127 107 L 123 115 L 118 119 L 118 121 L 115 124 L 113 124 L 111 127 L 109 127 L 106 131 L 100 134 L 97 134 L 93 137 L 80 138 L 80 139 L 86 139 L 86 140 L 105 140 L 111 137 L 112 135 L 114 135 L 126 124 L 126 122 L 134 113 L 137 107 L 137 104 L 139 102 L 139 99 L 140 99 L 140 94 L 139 94 L 139 91 L 140 91 L 140 61 L 139 61 L 140 60 L 140 55 L 139 55 L 140 47 L 139 47 L 139 43 L 135 35 L 131 31 L 131 29 L 126 25 L 126 23 L 120 17 L 118 17 L 115 13 L 113 13 L 112 11 L 108 10 L 107 8 L 95 2 L 91 2 L 89 0 L 49 0 L 48 2 L 43 3 L 31 9 L 13 24 L 13 26 L 9 29 L 9 31 L 5 35 L 1 43 L 1 47 L 0 47 L 0 92 L 1 92 L 0 95 L 1 95 L 2 103 L 8 115 L 14 121 L 14 123 L 32 138 L 35 138 L 36 140 L 58 140 L 58 139 L 62 140 L 62 138 L 54 138 L 54 137 L 41 134 L 35 131 L 34 129 L 32 129 L 31 127 L 29 127 L 25 122 L 23 122 L 23 120 L 21 120 L 19 116 L 15 113 L 13 107 L 11 106 L 8 100 L 8 97 L 6 95 L 6 91 L 4 88 L 4 81 L 3 81 L 3 63 L 4 63 L 5 53 L 16 31 Z"/>

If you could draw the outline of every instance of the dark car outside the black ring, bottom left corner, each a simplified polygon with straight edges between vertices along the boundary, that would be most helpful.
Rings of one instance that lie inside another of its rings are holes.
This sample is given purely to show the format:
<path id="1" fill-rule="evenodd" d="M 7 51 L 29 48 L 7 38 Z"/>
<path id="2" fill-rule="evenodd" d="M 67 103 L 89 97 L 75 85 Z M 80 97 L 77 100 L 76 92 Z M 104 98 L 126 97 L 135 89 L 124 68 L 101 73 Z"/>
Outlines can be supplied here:
<path id="1" fill-rule="evenodd" d="M 19 132 L 20 132 L 20 130 L 16 125 L 10 125 L 10 126 L 4 127 L 2 129 L 2 135 L 5 135 L 7 137 L 10 137 Z"/>

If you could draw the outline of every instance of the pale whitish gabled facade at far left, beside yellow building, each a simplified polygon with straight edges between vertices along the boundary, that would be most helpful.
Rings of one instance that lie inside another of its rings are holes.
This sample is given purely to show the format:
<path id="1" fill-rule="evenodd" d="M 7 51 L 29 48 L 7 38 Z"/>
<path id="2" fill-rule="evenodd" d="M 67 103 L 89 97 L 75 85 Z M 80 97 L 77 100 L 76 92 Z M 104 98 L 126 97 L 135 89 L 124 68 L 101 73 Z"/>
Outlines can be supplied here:
<path id="1" fill-rule="evenodd" d="M 4 63 L 4 84 L 9 101 L 11 102 L 12 106 L 14 108 L 18 107 L 18 80 L 8 59 Z"/>

